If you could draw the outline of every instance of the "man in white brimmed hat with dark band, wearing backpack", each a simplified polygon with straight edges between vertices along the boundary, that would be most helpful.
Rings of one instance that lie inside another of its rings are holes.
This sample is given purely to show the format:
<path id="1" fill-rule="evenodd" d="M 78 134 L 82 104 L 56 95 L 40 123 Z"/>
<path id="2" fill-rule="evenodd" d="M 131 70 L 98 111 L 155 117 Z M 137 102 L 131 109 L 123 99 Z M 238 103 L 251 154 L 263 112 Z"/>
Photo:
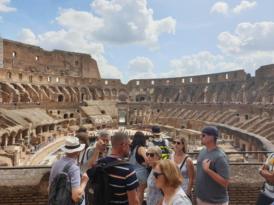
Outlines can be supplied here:
<path id="1" fill-rule="evenodd" d="M 84 148 L 85 144 L 80 144 L 78 138 L 66 139 L 65 147 L 61 148 L 66 156 L 58 159 L 51 168 L 48 205 L 85 205 L 82 196 L 88 176 L 85 173 L 80 177 L 80 169 L 75 160 Z"/>

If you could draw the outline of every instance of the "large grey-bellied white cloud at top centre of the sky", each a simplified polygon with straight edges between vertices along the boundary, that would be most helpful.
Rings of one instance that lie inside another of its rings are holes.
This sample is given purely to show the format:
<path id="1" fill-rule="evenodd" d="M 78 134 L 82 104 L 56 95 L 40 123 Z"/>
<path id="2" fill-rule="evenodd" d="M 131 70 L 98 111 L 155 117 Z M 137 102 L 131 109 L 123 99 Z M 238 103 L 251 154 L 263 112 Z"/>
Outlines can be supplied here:
<path id="1" fill-rule="evenodd" d="M 153 20 L 153 10 L 146 0 L 95 0 L 91 9 L 102 16 L 104 26 L 90 31 L 90 38 L 113 45 L 140 44 L 151 50 L 159 48 L 158 36 L 175 33 L 176 20 Z"/>

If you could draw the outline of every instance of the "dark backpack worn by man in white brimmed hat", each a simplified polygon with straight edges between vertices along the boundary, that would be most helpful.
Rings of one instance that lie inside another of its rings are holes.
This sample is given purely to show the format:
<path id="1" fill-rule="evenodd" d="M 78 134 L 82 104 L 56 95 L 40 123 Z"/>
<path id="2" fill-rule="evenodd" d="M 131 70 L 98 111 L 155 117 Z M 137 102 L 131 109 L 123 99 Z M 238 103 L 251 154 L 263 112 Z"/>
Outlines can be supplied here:
<path id="1" fill-rule="evenodd" d="M 68 168 L 74 164 L 68 162 L 63 171 L 59 172 L 49 188 L 49 202 L 48 205 L 75 205 L 76 202 L 72 200 L 70 176 L 68 175 Z"/>

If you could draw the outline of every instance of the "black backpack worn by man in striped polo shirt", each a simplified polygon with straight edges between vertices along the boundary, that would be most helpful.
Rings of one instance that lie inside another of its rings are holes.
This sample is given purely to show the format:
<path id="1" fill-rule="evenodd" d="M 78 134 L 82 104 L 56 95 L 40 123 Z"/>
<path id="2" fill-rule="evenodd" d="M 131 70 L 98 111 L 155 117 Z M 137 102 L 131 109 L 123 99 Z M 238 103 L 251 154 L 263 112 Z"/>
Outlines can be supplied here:
<path id="1" fill-rule="evenodd" d="M 118 166 L 118 165 L 131 165 L 128 161 L 117 160 L 107 164 L 103 164 L 103 159 L 94 163 L 91 169 L 86 171 L 89 181 L 87 186 L 87 205 L 108 205 L 110 203 L 111 196 L 113 195 L 112 187 L 108 185 L 108 173 L 106 168 Z"/>

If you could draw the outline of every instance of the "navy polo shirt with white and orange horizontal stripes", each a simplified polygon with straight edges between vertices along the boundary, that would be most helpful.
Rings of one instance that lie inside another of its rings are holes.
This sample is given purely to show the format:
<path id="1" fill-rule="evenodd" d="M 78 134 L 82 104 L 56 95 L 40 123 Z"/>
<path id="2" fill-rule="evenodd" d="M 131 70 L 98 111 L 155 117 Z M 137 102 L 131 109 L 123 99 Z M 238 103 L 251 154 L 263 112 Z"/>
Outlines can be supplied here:
<path id="1" fill-rule="evenodd" d="M 118 157 L 104 157 L 102 160 L 110 163 L 121 159 Z M 110 167 L 106 171 L 108 172 L 108 183 L 114 191 L 111 196 L 110 205 L 128 204 L 126 191 L 134 190 L 139 186 L 134 167 L 132 165 L 120 165 Z"/>

